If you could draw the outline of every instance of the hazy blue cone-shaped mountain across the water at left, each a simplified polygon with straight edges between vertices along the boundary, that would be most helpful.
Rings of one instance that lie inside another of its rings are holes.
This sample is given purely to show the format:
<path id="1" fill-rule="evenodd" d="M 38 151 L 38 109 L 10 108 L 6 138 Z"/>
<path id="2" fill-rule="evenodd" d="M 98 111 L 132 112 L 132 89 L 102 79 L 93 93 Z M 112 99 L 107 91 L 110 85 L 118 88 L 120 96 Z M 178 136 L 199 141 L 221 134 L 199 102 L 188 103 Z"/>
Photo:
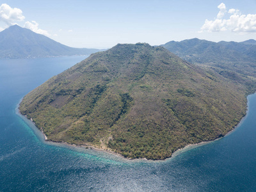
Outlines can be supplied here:
<path id="1" fill-rule="evenodd" d="M 17 25 L 0 32 L 0 58 L 44 58 L 85 55 L 98 51 L 101 50 L 68 47 Z"/>

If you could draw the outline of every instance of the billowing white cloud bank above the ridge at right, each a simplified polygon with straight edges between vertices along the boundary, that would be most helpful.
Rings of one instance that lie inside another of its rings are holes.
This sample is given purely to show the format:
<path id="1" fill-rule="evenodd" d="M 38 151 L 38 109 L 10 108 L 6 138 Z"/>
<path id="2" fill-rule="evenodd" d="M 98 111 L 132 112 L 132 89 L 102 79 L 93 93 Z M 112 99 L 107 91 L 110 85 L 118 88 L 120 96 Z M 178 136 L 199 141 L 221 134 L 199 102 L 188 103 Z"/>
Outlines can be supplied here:
<path id="1" fill-rule="evenodd" d="M 220 12 L 215 20 L 205 20 L 200 33 L 232 31 L 232 32 L 256 32 L 256 14 L 242 15 L 239 10 L 234 8 L 226 10 L 224 3 L 221 3 L 218 8 Z M 226 13 L 230 14 L 228 19 L 223 19 Z"/>

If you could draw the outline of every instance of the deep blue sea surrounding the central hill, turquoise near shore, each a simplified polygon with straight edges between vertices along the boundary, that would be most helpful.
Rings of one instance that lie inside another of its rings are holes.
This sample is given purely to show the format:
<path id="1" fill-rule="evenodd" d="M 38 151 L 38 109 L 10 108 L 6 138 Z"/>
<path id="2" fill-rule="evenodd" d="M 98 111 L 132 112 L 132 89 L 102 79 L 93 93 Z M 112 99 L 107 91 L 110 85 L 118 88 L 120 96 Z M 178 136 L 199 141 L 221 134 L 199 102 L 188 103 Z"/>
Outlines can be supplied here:
<path id="1" fill-rule="evenodd" d="M 256 191 L 256 94 L 235 131 L 165 161 L 45 142 L 17 105 L 84 58 L 0 60 L 0 191 Z"/>

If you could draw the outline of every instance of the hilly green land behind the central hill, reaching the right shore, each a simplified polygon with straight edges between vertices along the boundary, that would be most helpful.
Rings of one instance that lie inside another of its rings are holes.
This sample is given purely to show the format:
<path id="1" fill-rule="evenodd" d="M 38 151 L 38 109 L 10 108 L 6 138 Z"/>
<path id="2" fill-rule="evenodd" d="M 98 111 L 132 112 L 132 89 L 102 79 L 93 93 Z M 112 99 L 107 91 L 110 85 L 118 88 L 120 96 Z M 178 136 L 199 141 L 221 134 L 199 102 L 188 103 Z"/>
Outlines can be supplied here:
<path id="1" fill-rule="evenodd" d="M 193 38 L 161 45 L 180 58 L 203 68 L 212 68 L 222 76 L 255 91 L 256 41 L 210 42 Z"/>

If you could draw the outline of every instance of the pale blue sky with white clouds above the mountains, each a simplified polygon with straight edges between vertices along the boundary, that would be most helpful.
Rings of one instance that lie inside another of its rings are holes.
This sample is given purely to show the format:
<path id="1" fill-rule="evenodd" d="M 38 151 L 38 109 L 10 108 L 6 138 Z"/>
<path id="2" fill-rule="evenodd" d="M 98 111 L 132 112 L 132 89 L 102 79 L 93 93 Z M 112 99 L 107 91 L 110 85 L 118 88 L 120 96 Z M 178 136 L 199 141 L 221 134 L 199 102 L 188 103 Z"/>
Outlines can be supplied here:
<path id="1" fill-rule="evenodd" d="M 241 42 L 256 40 L 256 0 L 2 0 L 0 31 L 13 24 L 70 47 L 189 38 Z"/>

